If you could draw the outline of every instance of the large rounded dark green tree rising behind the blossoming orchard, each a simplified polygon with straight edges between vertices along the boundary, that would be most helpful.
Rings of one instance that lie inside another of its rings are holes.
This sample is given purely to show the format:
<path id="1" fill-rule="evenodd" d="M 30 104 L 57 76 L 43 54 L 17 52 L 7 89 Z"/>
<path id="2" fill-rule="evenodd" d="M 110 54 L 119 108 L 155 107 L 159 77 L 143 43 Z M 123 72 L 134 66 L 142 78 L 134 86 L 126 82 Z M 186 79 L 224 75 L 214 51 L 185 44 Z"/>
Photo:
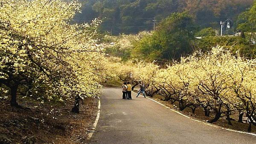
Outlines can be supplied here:
<path id="1" fill-rule="evenodd" d="M 196 30 L 193 17 L 187 12 L 173 13 L 162 20 L 151 35 L 134 43 L 135 57 L 142 56 L 149 60 L 179 59 L 191 53 L 190 42 Z"/>

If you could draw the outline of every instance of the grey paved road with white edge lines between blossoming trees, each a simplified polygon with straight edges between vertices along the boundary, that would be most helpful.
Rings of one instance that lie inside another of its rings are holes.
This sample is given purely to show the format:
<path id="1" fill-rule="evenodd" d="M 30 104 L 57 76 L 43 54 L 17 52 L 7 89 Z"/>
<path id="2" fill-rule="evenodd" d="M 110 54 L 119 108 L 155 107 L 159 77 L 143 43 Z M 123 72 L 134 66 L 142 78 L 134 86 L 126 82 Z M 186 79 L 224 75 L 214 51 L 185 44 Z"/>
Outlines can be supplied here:
<path id="1" fill-rule="evenodd" d="M 90 144 L 256 144 L 256 136 L 189 119 L 143 96 L 105 88 Z"/>

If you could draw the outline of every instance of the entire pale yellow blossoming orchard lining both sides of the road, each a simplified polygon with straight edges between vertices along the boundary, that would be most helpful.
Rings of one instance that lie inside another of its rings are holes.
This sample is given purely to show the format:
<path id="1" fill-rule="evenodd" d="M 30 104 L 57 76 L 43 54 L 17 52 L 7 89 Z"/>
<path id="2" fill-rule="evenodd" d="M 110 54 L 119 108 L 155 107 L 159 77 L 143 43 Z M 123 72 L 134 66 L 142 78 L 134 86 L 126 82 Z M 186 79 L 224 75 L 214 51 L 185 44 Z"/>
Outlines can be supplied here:
<path id="1" fill-rule="evenodd" d="M 100 82 L 118 77 L 143 81 L 147 96 L 157 94 L 165 101 L 178 102 L 180 110 L 190 107 L 195 112 L 201 107 L 206 116 L 214 115 L 210 123 L 239 111 L 256 125 L 255 59 L 216 46 L 207 53 L 196 51 L 162 67 L 137 59 L 122 63 L 106 56 L 104 45 L 97 45 L 99 20 L 90 25 L 71 24 L 79 7 L 75 1 L 1 1 L 1 99 L 10 96 L 11 105 L 16 107 L 17 98 L 29 97 L 41 104 L 76 99 L 77 112 L 79 99 L 99 95 Z M 125 50 L 132 54 L 131 43 L 124 40 L 119 44 L 116 47 L 120 51 L 128 45 Z"/>

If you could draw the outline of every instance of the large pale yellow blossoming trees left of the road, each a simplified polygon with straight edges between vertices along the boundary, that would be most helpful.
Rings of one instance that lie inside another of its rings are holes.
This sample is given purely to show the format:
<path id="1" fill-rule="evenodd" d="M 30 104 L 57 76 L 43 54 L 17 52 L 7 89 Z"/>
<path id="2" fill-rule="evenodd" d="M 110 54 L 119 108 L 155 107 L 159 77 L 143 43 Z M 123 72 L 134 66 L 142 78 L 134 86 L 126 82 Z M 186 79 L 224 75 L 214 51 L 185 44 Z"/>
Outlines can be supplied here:
<path id="1" fill-rule="evenodd" d="M 99 20 L 70 24 L 79 12 L 76 1 L 0 2 L 1 99 L 11 95 L 17 107 L 17 93 L 41 104 L 98 95 L 99 82 L 108 77 L 108 60 L 96 46 Z"/>

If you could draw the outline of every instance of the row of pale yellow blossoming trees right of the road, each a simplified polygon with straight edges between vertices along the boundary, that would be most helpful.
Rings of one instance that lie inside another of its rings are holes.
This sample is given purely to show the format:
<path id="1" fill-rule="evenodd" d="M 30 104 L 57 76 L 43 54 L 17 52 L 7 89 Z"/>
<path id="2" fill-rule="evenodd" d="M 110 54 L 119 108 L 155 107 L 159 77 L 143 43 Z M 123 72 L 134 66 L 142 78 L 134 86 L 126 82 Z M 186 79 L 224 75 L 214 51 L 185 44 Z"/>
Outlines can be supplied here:
<path id="1" fill-rule="evenodd" d="M 138 62 L 127 68 L 132 79 L 145 82 L 146 95 L 161 95 L 164 101 L 178 102 L 179 109 L 201 107 L 210 123 L 229 118 L 234 111 L 246 115 L 256 125 L 256 60 L 233 55 L 217 46 L 204 54 L 196 51 L 166 68 Z M 125 70 L 122 71 L 124 73 Z M 250 129 L 249 129 L 250 130 Z"/>

